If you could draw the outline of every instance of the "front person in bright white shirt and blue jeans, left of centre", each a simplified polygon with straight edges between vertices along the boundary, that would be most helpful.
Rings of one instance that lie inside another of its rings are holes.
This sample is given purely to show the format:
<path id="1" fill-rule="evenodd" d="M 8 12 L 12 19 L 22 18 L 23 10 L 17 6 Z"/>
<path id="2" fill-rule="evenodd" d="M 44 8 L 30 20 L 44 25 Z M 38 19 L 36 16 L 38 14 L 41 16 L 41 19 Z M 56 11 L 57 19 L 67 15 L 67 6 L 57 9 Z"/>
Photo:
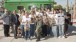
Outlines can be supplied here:
<path id="1" fill-rule="evenodd" d="M 28 38 L 30 38 L 30 21 L 31 21 L 31 18 L 29 17 L 28 14 L 26 14 L 26 19 L 25 19 L 25 37 L 26 37 L 26 40 Z"/>

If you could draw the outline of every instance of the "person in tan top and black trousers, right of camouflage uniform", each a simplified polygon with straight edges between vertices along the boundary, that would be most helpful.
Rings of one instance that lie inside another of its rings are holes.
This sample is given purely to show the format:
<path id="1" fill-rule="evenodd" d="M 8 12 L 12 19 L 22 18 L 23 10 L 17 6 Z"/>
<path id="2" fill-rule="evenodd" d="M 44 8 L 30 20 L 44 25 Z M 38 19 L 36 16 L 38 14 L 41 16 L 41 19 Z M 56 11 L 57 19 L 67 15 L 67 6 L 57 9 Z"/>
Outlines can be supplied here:
<path id="1" fill-rule="evenodd" d="M 43 15 L 43 26 L 42 26 L 42 35 L 43 37 L 47 36 L 47 27 L 48 27 L 48 20 L 47 15 L 44 13 Z"/>

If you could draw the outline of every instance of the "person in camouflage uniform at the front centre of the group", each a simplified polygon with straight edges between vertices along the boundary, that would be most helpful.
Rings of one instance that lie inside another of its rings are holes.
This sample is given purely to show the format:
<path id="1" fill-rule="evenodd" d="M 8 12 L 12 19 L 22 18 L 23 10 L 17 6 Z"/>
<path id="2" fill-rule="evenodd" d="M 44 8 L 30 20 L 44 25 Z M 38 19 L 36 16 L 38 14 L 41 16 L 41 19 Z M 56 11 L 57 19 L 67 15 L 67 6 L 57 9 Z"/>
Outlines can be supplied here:
<path id="1" fill-rule="evenodd" d="M 40 16 L 38 16 L 37 19 L 38 20 L 36 21 L 37 24 L 36 24 L 35 34 L 36 34 L 37 41 L 40 41 L 40 36 L 42 32 L 42 20 Z"/>

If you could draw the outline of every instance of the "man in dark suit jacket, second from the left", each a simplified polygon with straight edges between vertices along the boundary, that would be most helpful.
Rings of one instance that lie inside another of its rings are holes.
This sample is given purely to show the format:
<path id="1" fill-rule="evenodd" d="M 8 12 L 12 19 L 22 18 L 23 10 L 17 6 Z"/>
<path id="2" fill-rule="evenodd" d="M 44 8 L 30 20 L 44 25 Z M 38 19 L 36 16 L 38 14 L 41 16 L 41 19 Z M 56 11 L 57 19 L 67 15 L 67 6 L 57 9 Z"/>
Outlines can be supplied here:
<path id="1" fill-rule="evenodd" d="M 14 19 L 15 19 L 15 22 L 14 22 L 14 38 L 17 39 L 17 29 L 18 29 L 18 26 L 20 25 L 20 22 L 19 22 L 19 15 L 16 14 L 16 10 L 13 11 L 13 14 L 14 14 Z"/>

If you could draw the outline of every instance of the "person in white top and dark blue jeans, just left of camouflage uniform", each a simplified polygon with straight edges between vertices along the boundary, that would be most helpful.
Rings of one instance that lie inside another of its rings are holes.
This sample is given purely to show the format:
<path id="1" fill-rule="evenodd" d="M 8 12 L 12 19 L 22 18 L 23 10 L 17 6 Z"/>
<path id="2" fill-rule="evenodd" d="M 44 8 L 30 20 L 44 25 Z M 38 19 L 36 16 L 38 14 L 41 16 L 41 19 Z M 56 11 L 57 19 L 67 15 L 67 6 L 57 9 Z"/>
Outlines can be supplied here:
<path id="1" fill-rule="evenodd" d="M 31 18 L 31 23 L 30 23 L 30 36 L 34 36 L 34 32 L 35 32 L 35 11 L 31 11 L 31 14 L 29 15 L 29 17 Z"/>

